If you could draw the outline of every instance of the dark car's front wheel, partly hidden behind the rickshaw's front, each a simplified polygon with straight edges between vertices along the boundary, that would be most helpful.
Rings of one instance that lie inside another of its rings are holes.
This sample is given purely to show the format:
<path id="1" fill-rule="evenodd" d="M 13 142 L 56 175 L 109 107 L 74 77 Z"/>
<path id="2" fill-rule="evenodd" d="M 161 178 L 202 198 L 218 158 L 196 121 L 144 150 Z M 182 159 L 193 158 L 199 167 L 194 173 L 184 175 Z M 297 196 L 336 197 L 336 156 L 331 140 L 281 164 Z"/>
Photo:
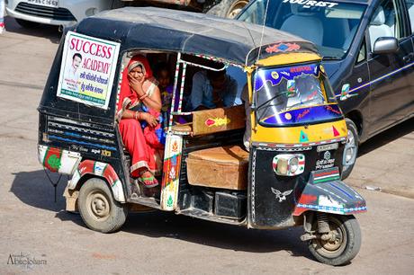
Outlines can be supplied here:
<path id="1" fill-rule="evenodd" d="M 348 138 L 344 149 L 344 166 L 342 168 L 341 174 L 342 180 L 347 179 L 347 177 L 351 174 L 352 169 L 354 169 L 354 165 L 356 164 L 356 155 L 358 155 L 359 144 L 358 130 L 356 129 L 355 123 L 349 119 L 345 120 L 347 121 Z"/>

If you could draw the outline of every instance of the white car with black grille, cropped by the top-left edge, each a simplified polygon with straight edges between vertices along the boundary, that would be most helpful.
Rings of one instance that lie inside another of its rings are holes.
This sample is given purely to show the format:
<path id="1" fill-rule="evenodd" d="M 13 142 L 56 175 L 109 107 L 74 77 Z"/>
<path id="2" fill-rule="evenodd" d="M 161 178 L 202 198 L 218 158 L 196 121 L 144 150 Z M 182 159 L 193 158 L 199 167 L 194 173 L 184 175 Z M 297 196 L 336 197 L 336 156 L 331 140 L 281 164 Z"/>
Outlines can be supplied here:
<path id="1" fill-rule="evenodd" d="M 40 23 L 71 26 L 113 8 L 117 0 L 5 0 L 6 12 L 25 28 Z"/>

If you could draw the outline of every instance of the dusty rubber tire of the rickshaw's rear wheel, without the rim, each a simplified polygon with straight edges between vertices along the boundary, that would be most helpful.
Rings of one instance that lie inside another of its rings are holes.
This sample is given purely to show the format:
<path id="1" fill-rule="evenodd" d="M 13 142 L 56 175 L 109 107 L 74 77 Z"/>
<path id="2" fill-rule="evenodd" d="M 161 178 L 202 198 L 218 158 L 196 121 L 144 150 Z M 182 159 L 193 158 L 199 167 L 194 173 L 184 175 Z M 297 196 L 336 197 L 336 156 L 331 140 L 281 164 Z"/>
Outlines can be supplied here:
<path id="1" fill-rule="evenodd" d="M 109 217 L 104 221 L 97 221 L 88 211 L 86 205 L 86 198 L 89 193 L 97 191 L 102 194 L 109 202 L 110 213 Z M 90 229 L 102 233 L 111 233 L 117 231 L 125 223 L 128 216 L 128 207 L 126 204 L 113 199 L 112 191 L 105 181 L 99 178 L 92 178 L 87 180 L 79 191 L 77 200 L 80 216 L 85 222 L 85 225 Z"/>

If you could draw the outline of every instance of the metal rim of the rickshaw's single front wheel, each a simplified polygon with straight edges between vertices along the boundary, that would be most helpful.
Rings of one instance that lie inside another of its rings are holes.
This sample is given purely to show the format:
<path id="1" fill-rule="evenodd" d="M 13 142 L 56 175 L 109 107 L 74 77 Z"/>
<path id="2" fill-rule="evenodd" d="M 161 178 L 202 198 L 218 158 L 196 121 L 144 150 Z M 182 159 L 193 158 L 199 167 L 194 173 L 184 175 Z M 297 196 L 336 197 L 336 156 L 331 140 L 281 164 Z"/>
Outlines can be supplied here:
<path id="1" fill-rule="evenodd" d="M 336 218 L 329 218 L 329 229 L 334 235 L 333 238 L 328 241 L 318 238 L 313 240 L 312 244 L 320 255 L 327 258 L 336 258 L 338 257 L 338 254 L 343 253 L 347 247 L 347 231 L 345 226 L 343 226 Z"/>

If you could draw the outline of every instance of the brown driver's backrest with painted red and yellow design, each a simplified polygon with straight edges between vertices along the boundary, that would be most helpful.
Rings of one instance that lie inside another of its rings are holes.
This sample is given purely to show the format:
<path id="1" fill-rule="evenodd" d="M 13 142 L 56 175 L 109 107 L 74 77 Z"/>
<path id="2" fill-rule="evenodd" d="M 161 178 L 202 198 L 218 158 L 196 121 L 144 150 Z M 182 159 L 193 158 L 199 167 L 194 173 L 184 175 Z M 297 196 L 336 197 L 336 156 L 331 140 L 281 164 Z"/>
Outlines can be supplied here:
<path id="1" fill-rule="evenodd" d="M 246 127 L 244 105 L 193 111 L 193 122 L 173 126 L 175 132 L 188 132 L 193 136 L 206 135 Z"/>

